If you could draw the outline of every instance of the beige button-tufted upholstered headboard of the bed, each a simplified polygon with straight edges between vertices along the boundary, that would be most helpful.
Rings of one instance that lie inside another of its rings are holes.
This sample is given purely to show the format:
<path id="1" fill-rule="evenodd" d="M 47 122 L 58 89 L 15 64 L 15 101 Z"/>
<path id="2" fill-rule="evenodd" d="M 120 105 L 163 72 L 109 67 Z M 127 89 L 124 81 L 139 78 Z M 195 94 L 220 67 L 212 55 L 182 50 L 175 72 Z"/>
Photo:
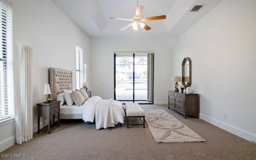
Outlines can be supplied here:
<path id="1" fill-rule="evenodd" d="M 53 100 L 64 90 L 72 90 L 72 71 L 50 67 L 50 89 Z"/>

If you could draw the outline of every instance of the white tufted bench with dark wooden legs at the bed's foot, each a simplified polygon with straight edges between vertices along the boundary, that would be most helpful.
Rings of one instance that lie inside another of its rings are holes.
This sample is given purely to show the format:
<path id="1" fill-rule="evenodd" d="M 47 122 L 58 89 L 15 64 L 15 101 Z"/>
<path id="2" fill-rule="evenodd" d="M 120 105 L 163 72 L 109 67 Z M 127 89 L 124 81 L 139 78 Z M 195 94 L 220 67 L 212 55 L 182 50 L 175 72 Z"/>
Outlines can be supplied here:
<path id="1" fill-rule="evenodd" d="M 138 103 L 126 103 L 125 104 L 126 116 L 127 116 L 127 128 L 129 125 L 143 125 L 145 128 L 145 112 L 140 108 Z M 129 124 L 129 118 L 143 118 L 142 124 Z"/>

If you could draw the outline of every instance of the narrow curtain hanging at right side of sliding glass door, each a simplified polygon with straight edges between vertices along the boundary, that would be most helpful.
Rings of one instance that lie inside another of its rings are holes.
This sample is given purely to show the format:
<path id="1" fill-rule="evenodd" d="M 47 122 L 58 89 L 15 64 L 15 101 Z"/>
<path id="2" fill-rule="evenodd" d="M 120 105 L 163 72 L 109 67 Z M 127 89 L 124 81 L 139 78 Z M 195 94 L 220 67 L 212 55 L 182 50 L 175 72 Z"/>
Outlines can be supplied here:
<path id="1" fill-rule="evenodd" d="M 148 96 L 147 101 L 153 101 L 153 80 L 154 80 L 154 54 L 148 53 Z"/>

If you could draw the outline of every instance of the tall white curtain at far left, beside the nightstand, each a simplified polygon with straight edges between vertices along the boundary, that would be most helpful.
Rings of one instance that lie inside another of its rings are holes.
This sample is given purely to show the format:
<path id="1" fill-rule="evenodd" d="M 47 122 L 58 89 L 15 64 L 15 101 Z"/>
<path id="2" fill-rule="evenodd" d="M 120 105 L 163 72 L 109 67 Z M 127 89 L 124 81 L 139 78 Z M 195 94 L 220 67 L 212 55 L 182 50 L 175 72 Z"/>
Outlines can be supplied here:
<path id="1" fill-rule="evenodd" d="M 22 45 L 20 104 L 15 105 L 16 143 L 33 139 L 32 47 Z"/>

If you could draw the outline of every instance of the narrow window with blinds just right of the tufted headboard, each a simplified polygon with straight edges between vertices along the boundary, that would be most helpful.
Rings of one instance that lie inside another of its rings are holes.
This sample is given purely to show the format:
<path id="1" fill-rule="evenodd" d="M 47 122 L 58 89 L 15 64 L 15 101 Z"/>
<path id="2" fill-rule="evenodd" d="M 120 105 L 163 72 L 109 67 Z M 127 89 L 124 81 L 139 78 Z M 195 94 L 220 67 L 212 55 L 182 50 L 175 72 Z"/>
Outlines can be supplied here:
<path id="1" fill-rule="evenodd" d="M 83 49 L 76 45 L 76 88 L 81 88 L 83 83 Z"/>

